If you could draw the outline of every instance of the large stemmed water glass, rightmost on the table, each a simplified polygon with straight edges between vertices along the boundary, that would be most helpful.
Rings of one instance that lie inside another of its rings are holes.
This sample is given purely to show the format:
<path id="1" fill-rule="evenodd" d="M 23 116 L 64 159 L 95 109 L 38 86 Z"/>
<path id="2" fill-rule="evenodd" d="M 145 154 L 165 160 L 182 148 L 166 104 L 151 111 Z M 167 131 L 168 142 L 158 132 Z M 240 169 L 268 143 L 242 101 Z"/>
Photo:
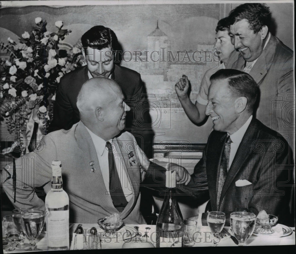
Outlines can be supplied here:
<path id="1" fill-rule="evenodd" d="M 230 214 L 230 226 L 239 246 L 245 246 L 247 239 L 253 234 L 256 225 L 256 215 L 247 212 Z"/>

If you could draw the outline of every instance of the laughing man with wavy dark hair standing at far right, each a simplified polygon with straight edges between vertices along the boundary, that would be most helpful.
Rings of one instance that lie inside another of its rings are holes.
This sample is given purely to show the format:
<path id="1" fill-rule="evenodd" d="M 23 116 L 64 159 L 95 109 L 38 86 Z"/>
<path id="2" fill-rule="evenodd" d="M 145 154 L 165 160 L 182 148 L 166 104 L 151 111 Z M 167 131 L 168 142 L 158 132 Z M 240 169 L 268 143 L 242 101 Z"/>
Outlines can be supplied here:
<path id="1" fill-rule="evenodd" d="M 270 33 L 271 12 L 266 4 L 241 4 L 229 14 L 234 48 L 226 68 L 249 73 L 258 84 L 256 118 L 278 131 L 294 147 L 294 52 Z"/>

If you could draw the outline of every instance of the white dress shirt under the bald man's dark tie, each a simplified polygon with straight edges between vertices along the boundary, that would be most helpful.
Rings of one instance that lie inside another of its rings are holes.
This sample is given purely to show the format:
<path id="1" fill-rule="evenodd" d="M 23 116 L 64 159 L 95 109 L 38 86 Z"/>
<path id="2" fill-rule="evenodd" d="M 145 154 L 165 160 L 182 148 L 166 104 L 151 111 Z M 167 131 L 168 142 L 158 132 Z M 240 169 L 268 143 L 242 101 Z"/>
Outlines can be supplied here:
<path id="1" fill-rule="evenodd" d="M 96 149 L 96 154 L 98 156 L 100 169 L 103 175 L 103 180 L 105 183 L 105 187 L 107 189 L 107 193 L 109 194 L 109 161 L 108 161 L 108 149 L 106 147 L 106 141 L 94 134 L 91 130 L 89 130 L 86 127 L 86 130 L 89 132 L 89 135 L 91 136 L 91 139 L 94 143 L 94 147 Z M 116 139 L 114 140 L 108 140 L 112 145 L 114 144 L 114 147 L 118 147 L 118 143 L 116 142 Z M 123 161 L 123 158 L 120 156 L 120 154 L 115 153 L 113 151 L 116 170 L 118 173 L 118 177 L 122 186 L 123 194 L 126 197 L 126 201 L 129 202 L 132 198 L 132 188 L 131 183 L 129 181 L 129 176 L 126 172 L 126 166 Z"/>

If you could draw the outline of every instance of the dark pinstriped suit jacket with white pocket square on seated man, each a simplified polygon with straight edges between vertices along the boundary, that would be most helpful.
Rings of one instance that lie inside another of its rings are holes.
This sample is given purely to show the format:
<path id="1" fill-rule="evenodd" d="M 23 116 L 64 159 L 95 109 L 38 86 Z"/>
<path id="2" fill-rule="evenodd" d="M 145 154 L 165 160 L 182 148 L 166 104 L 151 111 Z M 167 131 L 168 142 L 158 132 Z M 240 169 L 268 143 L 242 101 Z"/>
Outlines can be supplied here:
<path id="1" fill-rule="evenodd" d="M 293 155 L 286 140 L 257 119 L 252 119 L 239 145 L 217 207 L 219 166 L 226 137 L 225 132 L 210 134 L 203 157 L 195 166 L 190 183 L 183 189 L 199 199 L 203 194 L 200 188 L 207 186 L 211 210 L 225 212 L 226 218 L 233 211 L 248 210 L 258 214 L 265 210 L 279 216 L 279 223 L 289 223 Z M 238 187 L 237 180 L 248 180 L 252 184 Z M 222 199 L 224 207 L 221 207 Z M 206 214 L 203 224 L 206 225 Z"/>

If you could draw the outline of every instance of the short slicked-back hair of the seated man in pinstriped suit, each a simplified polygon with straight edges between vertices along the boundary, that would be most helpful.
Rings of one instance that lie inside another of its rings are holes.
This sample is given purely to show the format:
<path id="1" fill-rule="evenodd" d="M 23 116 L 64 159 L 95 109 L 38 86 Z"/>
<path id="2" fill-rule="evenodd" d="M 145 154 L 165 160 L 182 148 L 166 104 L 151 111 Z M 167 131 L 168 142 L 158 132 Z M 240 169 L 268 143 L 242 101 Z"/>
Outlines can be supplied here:
<path id="1" fill-rule="evenodd" d="M 256 81 L 246 72 L 234 69 L 221 69 L 210 77 L 211 82 L 221 79 L 227 79 L 231 95 L 234 98 L 247 98 L 247 110 L 253 113 L 259 92 Z"/>

